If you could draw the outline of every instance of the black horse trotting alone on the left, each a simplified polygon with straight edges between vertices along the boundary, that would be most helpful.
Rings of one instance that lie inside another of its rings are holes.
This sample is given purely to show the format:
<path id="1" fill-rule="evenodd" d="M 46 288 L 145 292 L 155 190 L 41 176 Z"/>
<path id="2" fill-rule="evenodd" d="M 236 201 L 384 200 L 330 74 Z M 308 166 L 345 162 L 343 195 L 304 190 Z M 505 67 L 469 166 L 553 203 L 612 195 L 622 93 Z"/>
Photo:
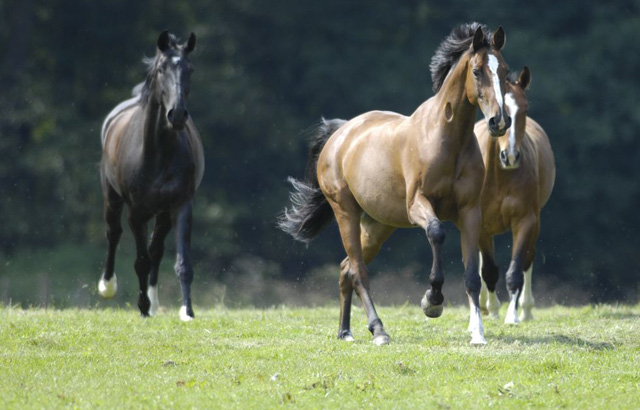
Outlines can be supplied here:
<path id="1" fill-rule="evenodd" d="M 111 298 L 117 290 L 115 252 L 122 234 L 123 205 L 136 243 L 134 268 L 142 316 L 158 310 L 158 268 L 164 239 L 176 227 L 175 272 L 182 289 L 180 319 L 192 320 L 190 259 L 193 197 L 204 173 L 204 151 L 196 126 L 187 111 L 193 65 L 189 54 L 196 37 L 180 44 L 163 31 L 156 55 L 146 59 L 148 74 L 134 97 L 120 103 L 102 125 L 100 179 L 108 253 L 98 290 Z M 155 218 L 151 240 L 148 221 Z"/>

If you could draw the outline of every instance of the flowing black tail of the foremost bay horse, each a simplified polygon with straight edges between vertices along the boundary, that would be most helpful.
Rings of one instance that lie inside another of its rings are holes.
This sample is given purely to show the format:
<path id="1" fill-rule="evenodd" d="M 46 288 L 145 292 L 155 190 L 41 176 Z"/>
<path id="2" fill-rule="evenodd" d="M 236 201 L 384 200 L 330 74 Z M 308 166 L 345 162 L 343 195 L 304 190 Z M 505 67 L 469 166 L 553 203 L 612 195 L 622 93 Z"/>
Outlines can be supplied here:
<path id="1" fill-rule="evenodd" d="M 298 241 L 311 242 L 333 219 L 333 210 L 320 190 L 316 171 L 322 148 L 329 137 L 345 123 L 345 120 L 327 121 L 323 118 L 311 136 L 304 181 L 288 178 L 293 186 L 289 195 L 291 208 L 284 209 L 278 218 L 278 227 Z"/>

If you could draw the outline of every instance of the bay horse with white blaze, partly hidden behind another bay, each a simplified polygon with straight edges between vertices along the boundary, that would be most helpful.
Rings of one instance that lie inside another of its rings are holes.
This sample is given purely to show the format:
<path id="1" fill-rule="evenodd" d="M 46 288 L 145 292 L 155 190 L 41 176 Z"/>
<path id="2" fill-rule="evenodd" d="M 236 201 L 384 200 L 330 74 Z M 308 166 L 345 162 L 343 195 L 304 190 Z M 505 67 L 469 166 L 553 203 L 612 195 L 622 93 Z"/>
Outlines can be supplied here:
<path id="1" fill-rule="evenodd" d="M 540 231 L 540 211 L 551 196 L 556 176 L 549 138 L 542 127 L 527 116 L 529 102 L 525 90 L 530 82 L 531 71 L 525 67 L 517 79 L 507 83 L 505 104 L 512 120 L 507 134 L 496 139 L 482 121 L 475 125 L 485 166 L 480 200 L 483 279 L 480 304 L 485 313 L 498 317 L 500 301 L 495 287 L 499 271 L 493 237 L 511 231 L 513 246 L 506 274 L 509 307 L 505 317 L 509 324 L 533 319 L 531 273 Z M 522 306 L 520 317 L 518 305 Z"/>

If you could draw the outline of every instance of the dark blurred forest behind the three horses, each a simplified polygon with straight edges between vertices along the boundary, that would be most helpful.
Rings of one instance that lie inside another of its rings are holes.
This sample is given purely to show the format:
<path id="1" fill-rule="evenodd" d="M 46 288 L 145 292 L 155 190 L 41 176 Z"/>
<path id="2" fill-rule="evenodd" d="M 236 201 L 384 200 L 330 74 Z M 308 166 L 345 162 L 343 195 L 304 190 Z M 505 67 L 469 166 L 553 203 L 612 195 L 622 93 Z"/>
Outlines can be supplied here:
<path id="1" fill-rule="evenodd" d="M 106 241 L 97 164 L 105 115 L 143 80 L 168 28 L 198 37 L 189 110 L 206 172 L 196 196 L 194 300 L 205 305 L 337 299 L 335 224 L 308 248 L 275 228 L 305 130 L 321 116 L 411 114 L 429 62 L 459 23 L 503 26 L 513 71 L 531 68 L 530 115 L 557 179 L 534 267 L 538 303 L 640 294 L 640 1 L 0 1 L 0 300 L 94 305 Z M 464 299 L 447 225 L 445 295 Z M 170 237 L 171 238 L 171 237 Z M 119 303 L 136 292 L 131 234 Z M 497 241 L 502 272 L 510 236 Z M 160 286 L 178 299 L 168 241 Z M 398 231 L 372 265 L 374 294 L 417 303 L 431 263 L 423 232 Z M 126 281 L 129 281 L 127 284 Z M 501 279 L 499 288 L 504 289 Z"/>

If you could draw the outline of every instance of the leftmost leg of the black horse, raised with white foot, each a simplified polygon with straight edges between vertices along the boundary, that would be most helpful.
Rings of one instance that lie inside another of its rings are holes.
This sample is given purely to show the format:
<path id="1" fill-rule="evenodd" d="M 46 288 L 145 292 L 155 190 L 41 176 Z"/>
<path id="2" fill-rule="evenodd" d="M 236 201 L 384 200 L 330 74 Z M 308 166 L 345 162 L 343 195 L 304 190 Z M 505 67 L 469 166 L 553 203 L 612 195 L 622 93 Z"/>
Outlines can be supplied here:
<path id="1" fill-rule="evenodd" d="M 98 292 L 104 298 L 110 299 L 118 290 L 118 281 L 113 272 L 116 249 L 122 235 L 122 207 L 124 201 L 111 185 L 103 179 L 104 194 L 104 220 L 107 225 L 106 236 L 108 242 L 107 259 L 104 262 L 104 271 L 98 283 Z"/>

